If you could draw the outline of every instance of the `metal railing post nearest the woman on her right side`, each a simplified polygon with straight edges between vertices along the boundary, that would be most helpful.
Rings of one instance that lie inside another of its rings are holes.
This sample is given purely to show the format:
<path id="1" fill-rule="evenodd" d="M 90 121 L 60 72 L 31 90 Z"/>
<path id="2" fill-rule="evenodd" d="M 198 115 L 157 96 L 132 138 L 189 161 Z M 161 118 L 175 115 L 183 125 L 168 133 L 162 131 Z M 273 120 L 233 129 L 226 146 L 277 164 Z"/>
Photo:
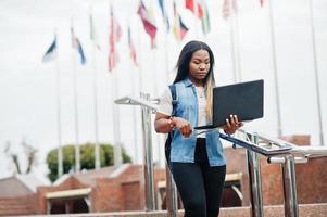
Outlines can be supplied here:
<path id="1" fill-rule="evenodd" d="M 257 136 L 250 135 L 252 143 L 257 144 Z M 251 201 L 251 217 L 263 217 L 263 200 L 261 190 L 261 168 L 260 156 L 257 153 L 247 150 L 248 169 L 249 169 L 249 184 L 250 184 L 250 201 Z"/>

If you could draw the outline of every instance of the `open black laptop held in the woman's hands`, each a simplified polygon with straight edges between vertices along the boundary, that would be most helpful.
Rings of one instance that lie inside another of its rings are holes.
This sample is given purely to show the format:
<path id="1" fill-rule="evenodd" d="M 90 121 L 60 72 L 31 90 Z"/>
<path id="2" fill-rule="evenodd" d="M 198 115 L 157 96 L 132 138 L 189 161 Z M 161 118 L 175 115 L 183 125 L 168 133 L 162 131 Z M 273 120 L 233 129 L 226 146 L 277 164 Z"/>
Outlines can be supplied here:
<path id="1" fill-rule="evenodd" d="M 212 125 L 197 126 L 194 129 L 213 129 L 226 125 L 229 115 L 247 122 L 263 117 L 264 81 L 252 80 L 213 89 Z"/>

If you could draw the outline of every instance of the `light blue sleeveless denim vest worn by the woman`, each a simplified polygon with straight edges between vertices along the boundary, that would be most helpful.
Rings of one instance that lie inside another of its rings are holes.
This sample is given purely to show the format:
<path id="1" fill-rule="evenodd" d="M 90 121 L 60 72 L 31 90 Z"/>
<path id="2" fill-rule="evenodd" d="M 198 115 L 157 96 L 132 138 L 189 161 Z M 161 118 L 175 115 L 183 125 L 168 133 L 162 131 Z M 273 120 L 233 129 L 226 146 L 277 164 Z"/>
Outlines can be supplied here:
<path id="1" fill-rule="evenodd" d="M 196 86 L 186 78 L 176 86 L 175 116 L 188 119 L 192 127 L 198 126 L 198 98 Z M 173 102 L 174 103 L 174 102 Z M 211 124 L 211 123 L 207 123 Z M 197 136 L 193 132 L 189 138 L 184 138 L 178 129 L 174 129 L 171 146 L 171 162 L 193 163 Z M 206 132 L 206 152 L 210 166 L 226 164 L 223 146 L 217 129 Z"/>

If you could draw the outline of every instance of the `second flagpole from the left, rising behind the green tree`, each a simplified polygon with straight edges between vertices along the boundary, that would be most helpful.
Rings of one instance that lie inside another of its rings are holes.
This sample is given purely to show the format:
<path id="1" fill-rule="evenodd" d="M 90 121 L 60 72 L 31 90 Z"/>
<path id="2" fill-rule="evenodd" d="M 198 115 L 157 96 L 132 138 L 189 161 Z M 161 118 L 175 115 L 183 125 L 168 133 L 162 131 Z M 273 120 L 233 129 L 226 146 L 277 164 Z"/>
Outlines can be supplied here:
<path id="1" fill-rule="evenodd" d="M 72 40 L 75 40 L 75 33 L 73 26 L 73 18 L 72 18 Z M 74 41 L 72 41 L 73 49 Z M 75 124 L 75 171 L 80 170 L 80 150 L 79 150 L 79 128 L 78 128 L 78 90 L 77 90 L 77 55 L 75 50 L 73 50 L 73 88 L 74 88 L 74 124 Z"/>

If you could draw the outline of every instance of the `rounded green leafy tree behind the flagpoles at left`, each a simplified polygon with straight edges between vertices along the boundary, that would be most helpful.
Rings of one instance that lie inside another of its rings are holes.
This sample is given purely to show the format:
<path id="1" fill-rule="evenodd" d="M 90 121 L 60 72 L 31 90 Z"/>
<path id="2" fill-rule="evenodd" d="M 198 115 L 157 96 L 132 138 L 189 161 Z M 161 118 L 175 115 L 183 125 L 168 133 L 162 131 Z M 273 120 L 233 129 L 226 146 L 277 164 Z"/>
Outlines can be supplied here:
<path id="1" fill-rule="evenodd" d="M 100 163 L 101 167 L 114 164 L 113 146 L 111 144 L 100 144 Z M 123 163 L 131 162 L 123 149 Z M 51 181 L 58 179 L 58 149 L 51 150 L 47 155 L 47 164 L 49 168 L 48 177 Z M 63 146 L 63 171 L 64 174 L 74 171 L 75 166 L 75 145 L 66 144 Z M 86 143 L 80 145 L 80 169 L 95 168 L 95 144 Z"/>

